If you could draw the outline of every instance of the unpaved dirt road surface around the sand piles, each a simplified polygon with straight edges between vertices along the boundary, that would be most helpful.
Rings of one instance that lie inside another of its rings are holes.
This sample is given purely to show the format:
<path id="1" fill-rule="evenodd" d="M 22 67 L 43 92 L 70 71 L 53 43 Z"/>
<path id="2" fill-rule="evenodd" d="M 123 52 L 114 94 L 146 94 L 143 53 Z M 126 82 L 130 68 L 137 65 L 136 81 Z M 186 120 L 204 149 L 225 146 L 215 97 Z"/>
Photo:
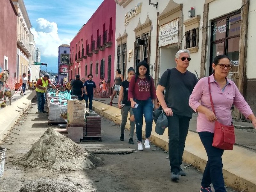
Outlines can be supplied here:
<path id="1" fill-rule="evenodd" d="M 187 176 L 181 176 L 178 182 L 170 180 L 168 154 L 162 150 L 149 150 L 134 152 L 127 155 L 97 155 L 103 163 L 96 169 L 74 171 L 74 172 L 52 172 L 42 168 L 24 168 L 11 163 L 12 159 L 23 156 L 31 148 L 40 136 L 48 128 L 48 117 L 46 114 L 38 114 L 36 105 L 31 108 L 28 118 L 23 125 L 16 126 L 18 130 L 12 130 L 16 134 L 9 138 L 13 145 L 5 144 L 9 148 L 5 165 L 4 176 L 0 179 L 1 192 L 19 191 L 25 183 L 37 178 L 59 179 L 63 181 L 72 180 L 80 183 L 88 192 L 144 192 L 144 191 L 171 191 L 198 192 L 202 173 L 193 167 L 187 168 Z M 83 147 L 101 148 L 134 148 L 137 145 L 128 144 L 129 132 L 125 132 L 125 140 L 119 140 L 119 126 L 107 119 L 102 118 L 103 142 L 78 143 Z M 134 136 L 134 140 L 136 136 Z M 182 167 L 185 165 L 183 164 Z M 228 192 L 233 190 L 227 189 Z"/>

